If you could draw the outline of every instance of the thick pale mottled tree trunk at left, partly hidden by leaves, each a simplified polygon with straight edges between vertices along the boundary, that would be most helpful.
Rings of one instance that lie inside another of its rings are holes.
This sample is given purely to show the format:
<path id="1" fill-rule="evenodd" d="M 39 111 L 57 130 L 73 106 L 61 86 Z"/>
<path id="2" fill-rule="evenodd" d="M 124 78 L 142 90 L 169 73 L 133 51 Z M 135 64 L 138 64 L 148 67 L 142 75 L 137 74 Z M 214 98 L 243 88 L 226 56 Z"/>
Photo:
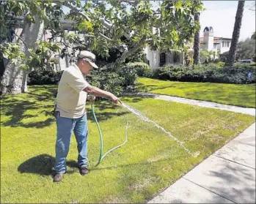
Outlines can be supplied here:
<path id="1" fill-rule="evenodd" d="M 23 26 L 23 29 L 25 30 L 23 36 L 21 36 L 23 39 L 21 44 L 26 57 L 29 57 L 28 48 L 34 48 L 34 42 L 41 40 L 43 37 L 43 23 L 41 23 L 39 16 L 35 16 L 34 19 L 35 23 L 31 26 L 28 24 Z M 18 41 L 19 39 L 17 42 Z M 5 61 L 4 67 L 4 75 L 2 76 L 0 83 L 1 94 L 20 94 L 21 92 L 26 92 L 29 72 L 27 70 L 22 70 L 19 66 L 10 64 L 9 61 Z"/>

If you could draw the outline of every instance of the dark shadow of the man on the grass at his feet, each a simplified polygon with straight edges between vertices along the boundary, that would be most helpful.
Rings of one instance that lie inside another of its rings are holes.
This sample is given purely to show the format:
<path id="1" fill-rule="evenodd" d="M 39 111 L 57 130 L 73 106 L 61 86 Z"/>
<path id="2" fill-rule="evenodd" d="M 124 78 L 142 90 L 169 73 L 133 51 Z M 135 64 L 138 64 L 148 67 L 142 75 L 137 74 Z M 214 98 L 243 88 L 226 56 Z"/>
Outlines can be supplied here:
<path id="1" fill-rule="evenodd" d="M 40 154 L 34 156 L 25 162 L 23 162 L 18 167 L 19 173 L 35 173 L 39 175 L 53 175 L 55 172 L 53 170 L 55 163 L 55 158 L 48 154 Z M 78 164 L 76 161 L 67 161 L 67 166 L 71 168 L 77 168 Z M 67 173 L 74 173 L 74 170 L 69 170 Z"/>

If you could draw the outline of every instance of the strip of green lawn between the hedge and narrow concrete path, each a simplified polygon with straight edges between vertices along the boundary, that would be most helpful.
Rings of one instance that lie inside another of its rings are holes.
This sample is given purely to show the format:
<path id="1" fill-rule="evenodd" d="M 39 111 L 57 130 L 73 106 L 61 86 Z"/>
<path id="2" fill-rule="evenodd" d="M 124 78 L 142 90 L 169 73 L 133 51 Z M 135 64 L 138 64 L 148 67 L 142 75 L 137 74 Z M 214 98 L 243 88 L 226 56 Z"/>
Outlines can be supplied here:
<path id="1" fill-rule="evenodd" d="M 138 91 L 255 107 L 255 84 L 191 83 L 139 78 Z"/>

